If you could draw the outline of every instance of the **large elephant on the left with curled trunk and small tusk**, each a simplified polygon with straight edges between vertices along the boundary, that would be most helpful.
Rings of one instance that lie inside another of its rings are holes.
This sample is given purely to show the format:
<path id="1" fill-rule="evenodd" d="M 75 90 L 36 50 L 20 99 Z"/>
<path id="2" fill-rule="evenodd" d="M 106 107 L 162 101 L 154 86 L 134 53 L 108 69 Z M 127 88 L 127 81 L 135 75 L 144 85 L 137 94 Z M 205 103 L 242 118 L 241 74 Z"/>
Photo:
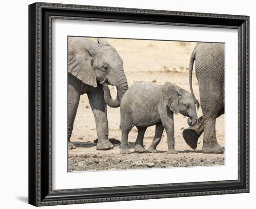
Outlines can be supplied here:
<path id="1" fill-rule="evenodd" d="M 111 98 L 108 84 L 115 85 L 117 97 Z M 114 146 L 108 141 L 107 106 L 119 107 L 128 89 L 123 62 L 118 52 L 105 39 L 95 43 L 81 37 L 68 37 L 68 148 L 80 95 L 87 93 L 92 108 L 96 130 L 97 150 Z"/>

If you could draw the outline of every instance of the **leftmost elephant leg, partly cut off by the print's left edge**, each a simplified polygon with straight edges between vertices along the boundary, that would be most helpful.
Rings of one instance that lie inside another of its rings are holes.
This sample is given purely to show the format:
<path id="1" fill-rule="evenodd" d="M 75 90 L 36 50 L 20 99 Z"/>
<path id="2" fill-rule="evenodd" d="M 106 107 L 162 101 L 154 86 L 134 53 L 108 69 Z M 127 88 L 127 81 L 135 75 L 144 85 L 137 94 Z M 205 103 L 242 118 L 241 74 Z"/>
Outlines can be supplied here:
<path id="1" fill-rule="evenodd" d="M 79 85 L 74 81 L 74 78 L 68 78 L 68 112 L 67 112 L 67 136 L 68 136 L 68 149 L 74 149 L 75 146 L 70 142 L 70 137 L 73 131 L 74 118 L 76 115 L 77 107 L 80 99 Z"/>

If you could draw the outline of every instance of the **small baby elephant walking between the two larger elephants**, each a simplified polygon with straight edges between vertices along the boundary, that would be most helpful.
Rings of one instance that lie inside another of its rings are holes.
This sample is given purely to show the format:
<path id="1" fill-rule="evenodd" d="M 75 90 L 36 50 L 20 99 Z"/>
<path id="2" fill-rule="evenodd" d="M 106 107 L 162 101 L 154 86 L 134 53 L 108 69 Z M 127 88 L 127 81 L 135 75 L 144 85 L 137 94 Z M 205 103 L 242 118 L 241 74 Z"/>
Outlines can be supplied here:
<path id="1" fill-rule="evenodd" d="M 189 117 L 188 124 L 193 126 L 197 121 L 195 103 L 191 94 L 177 85 L 166 82 L 164 85 L 136 82 L 124 94 L 121 100 L 121 150 L 120 153 L 129 154 L 128 133 L 136 126 L 138 136 L 135 151 L 146 151 L 143 146 L 144 133 L 148 126 L 155 125 L 155 137 L 148 151 L 155 153 L 160 143 L 162 132 L 167 133 L 167 154 L 177 154 L 174 144 L 173 113 L 179 112 Z"/>

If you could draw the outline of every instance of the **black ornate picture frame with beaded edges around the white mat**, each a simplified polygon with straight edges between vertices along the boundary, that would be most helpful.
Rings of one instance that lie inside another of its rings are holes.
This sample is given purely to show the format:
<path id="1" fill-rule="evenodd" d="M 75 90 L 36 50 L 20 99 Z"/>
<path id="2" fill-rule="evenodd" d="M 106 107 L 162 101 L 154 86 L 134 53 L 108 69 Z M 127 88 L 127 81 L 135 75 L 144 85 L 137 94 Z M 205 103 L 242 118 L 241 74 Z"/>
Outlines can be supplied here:
<path id="1" fill-rule="evenodd" d="M 238 179 L 52 190 L 51 20 L 96 20 L 238 30 Z M 29 203 L 35 206 L 249 192 L 249 16 L 95 7 L 29 5 Z"/>

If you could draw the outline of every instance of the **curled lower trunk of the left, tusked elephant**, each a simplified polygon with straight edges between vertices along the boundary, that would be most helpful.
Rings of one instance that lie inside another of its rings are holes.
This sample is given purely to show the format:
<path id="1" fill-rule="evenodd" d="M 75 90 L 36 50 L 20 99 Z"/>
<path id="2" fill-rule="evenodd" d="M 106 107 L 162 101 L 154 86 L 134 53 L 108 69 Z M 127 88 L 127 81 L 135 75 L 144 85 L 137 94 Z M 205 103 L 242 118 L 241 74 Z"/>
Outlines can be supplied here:
<path id="1" fill-rule="evenodd" d="M 104 90 L 104 100 L 110 107 L 120 107 L 121 99 L 124 93 L 128 90 L 128 84 L 124 74 L 119 78 L 119 81 L 119 84 L 116 85 L 117 95 L 115 99 L 111 97 L 108 84 L 106 82 L 102 84 Z"/>

